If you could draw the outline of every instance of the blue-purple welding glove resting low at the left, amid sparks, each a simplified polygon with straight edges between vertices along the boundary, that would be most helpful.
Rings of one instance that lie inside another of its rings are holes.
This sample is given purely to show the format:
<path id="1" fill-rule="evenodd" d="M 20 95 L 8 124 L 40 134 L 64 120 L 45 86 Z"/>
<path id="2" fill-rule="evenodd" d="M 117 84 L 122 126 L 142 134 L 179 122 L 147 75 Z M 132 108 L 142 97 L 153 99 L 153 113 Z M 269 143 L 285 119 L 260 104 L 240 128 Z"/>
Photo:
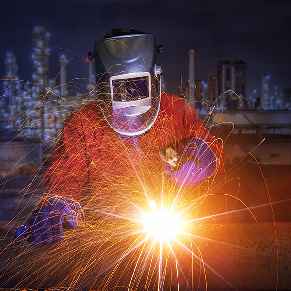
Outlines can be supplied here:
<path id="1" fill-rule="evenodd" d="M 25 225 L 19 226 L 14 238 L 27 238 L 28 242 L 48 245 L 64 238 L 63 227 L 77 229 L 84 220 L 80 204 L 72 199 L 54 196 L 44 200 L 43 207 L 35 210 Z"/>

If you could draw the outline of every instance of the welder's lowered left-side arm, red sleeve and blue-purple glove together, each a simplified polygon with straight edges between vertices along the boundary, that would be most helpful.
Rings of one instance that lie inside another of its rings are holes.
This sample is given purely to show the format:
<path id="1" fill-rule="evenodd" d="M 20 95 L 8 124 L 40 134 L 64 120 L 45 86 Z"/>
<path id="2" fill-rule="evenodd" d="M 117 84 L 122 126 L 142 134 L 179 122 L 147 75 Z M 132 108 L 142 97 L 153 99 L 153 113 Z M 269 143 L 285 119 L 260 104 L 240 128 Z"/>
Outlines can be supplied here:
<path id="1" fill-rule="evenodd" d="M 88 180 L 84 129 L 87 123 L 81 117 L 80 112 L 73 113 L 64 122 L 43 178 L 46 194 L 27 222 L 16 229 L 16 239 L 24 238 L 34 244 L 59 242 L 63 239 L 64 226 L 77 229 L 84 220 L 78 202 Z"/>

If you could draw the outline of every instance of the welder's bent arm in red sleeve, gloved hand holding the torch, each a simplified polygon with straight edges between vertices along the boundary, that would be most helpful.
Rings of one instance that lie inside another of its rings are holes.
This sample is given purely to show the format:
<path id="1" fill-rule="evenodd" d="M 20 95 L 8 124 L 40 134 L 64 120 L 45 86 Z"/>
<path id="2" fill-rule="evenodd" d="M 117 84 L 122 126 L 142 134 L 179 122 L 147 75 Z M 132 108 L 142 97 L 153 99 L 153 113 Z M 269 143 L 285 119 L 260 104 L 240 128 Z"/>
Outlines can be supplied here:
<path id="1" fill-rule="evenodd" d="M 169 104 L 164 110 L 171 116 L 176 137 L 160 151 L 167 162 L 165 172 L 170 179 L 178 185 L 194 186 L 222 171 L 224 148 L 199 122 L 197 110 L 178 96 L 164 95 L 163 98 L 166 98 L 164 104 Z"/>

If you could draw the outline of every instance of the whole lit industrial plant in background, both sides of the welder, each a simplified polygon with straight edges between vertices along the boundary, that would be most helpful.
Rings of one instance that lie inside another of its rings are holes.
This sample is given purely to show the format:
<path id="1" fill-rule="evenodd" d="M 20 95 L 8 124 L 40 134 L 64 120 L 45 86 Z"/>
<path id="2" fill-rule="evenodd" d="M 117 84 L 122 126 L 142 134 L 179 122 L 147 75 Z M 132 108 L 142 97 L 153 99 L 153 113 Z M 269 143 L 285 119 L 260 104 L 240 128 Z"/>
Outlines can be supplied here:
<path id="1" fill-rule="evenodd" d="M 65 117 L 96 98 L 90 95 L 94 88 L 94 70 L 89 62 L 89 76 L 84 79 L 87 90 L 78 92 L 76 84 L 67 81 L 65 54 L 59 56 L 58 76 L 50 77 L 49 32 L 45 27 L 34 28 L 32 43 L 32 81 L 21 81 L 13 52 L 7 52 L 4 61 L 6 74 L 0 96 L 2 176 L 25 164 L 32 165 L 28 155 L 23 154 L 19 159 L 19 155 L 11 151 L 16 140 L 17 148 L 22 141 L 20 147 L 24 153 L 28 149 L 30 153 L 35 151 L 34 161 L 37 162 L 33 167 L 39 166 L 43 160 L 39 158 L 40 153 L 54 146 Z M 285 88 L 283 94 L 277 94 L 276 90 L 275 96 L 270 96 L 270 75 L 263 72 L 260 96 L 247 96 L 247 64 L 242 60 L 218 61 L 216 69 L 209 71 L 207 80 L 195 79 L 195 51 L 191 49 L 188 54 L 189 79 L 178 88 L 177 94 L 198 110 L 200 121 L 207 120 L 207 126 L 215 131 L 216 137 L 228 138 L 225 143 L 227 162 L 240 161 L 265 138 L 254 153 L 259 162 L 291 164 L 291 89 Z"/>

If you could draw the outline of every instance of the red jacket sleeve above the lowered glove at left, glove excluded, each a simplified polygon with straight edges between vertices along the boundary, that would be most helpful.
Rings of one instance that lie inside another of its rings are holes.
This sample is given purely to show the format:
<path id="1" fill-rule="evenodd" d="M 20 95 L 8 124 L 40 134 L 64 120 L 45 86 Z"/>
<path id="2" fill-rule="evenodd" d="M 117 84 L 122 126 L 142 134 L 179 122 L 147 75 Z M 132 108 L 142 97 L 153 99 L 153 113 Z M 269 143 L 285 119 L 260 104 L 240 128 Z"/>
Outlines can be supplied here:
<path id="1" fill-rule="evenodd" d="M 49 196 L 59 195 L 80 202 L 87 180 L 84 124 L 80 114 L 72 113 L 64 122 L 43 182 Z"/>

